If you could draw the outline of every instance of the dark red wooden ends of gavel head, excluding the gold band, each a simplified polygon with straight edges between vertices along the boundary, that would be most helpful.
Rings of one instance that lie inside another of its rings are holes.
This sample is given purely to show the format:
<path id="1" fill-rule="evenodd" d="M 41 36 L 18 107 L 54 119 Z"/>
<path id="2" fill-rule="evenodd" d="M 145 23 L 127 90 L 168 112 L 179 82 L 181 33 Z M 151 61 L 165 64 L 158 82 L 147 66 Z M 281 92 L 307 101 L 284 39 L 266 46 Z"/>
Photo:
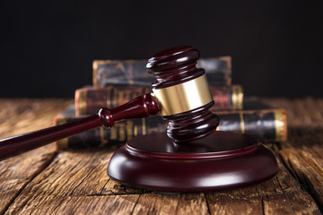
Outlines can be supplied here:
<path id="1" fill-rule="evenodd" d="M 156 82 L 153 89 L 162 89 L 205 74 L 205 70 L 196 68 L 200 53 L 193 47 L 171 47 L 158 52 L 148 60 L 148 73 L 153 73 Z M 212 114 L 208 108 L 214 101 L 203 107 L 197 107 L 185 113 L 163 116 L 170 120 L 167 135 L 175 142 L 194 141 L 213 133 L 219 125 L 219 117 Z"/>

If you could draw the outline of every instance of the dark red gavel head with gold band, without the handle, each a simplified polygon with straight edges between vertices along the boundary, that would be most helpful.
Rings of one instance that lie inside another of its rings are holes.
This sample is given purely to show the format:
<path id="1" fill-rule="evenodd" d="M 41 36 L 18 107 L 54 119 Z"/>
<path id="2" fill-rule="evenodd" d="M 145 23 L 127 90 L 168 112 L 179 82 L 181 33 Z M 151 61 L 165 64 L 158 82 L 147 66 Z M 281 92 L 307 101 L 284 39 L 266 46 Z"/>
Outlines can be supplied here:
<path id="1" fill-rule="evenodd" d="M 205 70 L 196 68 L 199 51 L 193 47 L 171 47 L 153 55 L 146 64 L 153 73 L 153 94 L 161 115 L 170 120 L 167 135 L 174 142 L 188 142 L 215 131 L 219 117 L 208 109 L 214 100 Z"/>

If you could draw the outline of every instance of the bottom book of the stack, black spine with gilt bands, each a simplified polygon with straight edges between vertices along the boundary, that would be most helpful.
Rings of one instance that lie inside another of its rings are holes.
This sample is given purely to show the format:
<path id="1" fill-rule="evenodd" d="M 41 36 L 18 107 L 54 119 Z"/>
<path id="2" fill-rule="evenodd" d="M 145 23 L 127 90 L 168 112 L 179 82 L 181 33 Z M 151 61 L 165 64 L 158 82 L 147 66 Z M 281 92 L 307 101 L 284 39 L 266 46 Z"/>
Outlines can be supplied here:
<path id="1" fill-rule="evenodd" d="M 287 139 L 287 120 L 284 109 L 255 111 L 218 112 L 220 125 L 218 130 L 248 133 L 258 137 L 261 142 L 284 142 Z M 56 125 L 71 122 L 80 117 L 57 116 Z M 161 116 L 130 119 L 118 122 L 110 129 L 96 128 L 79 133 L 57 142 L 60 149 L 105 147 L 120 145 L 127 140 L 147 133 L 165 132 L 168 121 Z"/>

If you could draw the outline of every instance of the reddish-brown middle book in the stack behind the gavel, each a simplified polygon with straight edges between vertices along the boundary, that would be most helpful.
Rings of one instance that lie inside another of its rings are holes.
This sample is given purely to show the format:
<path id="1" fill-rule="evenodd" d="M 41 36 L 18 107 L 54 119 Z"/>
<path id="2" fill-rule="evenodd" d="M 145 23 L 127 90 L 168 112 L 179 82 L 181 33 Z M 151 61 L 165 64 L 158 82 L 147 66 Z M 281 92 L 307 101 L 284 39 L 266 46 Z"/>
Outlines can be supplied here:
<path id="1" fill-rule="evenodd" d="M 210 87 L 214 97 L 212 110 L 241 109 L 243 92 L 240 85 L 219 85 Z M 118 107 L 130 99 L 144 95 L 151 91 L 150 87 L 116 87 L 104 89 L 83 88 L 75 90 L 75 114 L 96 114 L 100 107 Z"/>

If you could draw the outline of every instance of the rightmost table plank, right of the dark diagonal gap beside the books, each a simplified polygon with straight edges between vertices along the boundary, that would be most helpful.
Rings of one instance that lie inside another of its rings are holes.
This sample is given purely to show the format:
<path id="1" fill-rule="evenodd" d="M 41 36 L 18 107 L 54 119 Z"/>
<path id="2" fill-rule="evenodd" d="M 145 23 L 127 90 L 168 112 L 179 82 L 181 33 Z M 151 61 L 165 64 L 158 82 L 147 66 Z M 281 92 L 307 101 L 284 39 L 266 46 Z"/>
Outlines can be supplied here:
<path id="1" fill-rule="evenodd" d="M 278 150 L 284 165 L 323 209 L 323 99 L 266 99 L 286 108 L 288 141 Z"/>

